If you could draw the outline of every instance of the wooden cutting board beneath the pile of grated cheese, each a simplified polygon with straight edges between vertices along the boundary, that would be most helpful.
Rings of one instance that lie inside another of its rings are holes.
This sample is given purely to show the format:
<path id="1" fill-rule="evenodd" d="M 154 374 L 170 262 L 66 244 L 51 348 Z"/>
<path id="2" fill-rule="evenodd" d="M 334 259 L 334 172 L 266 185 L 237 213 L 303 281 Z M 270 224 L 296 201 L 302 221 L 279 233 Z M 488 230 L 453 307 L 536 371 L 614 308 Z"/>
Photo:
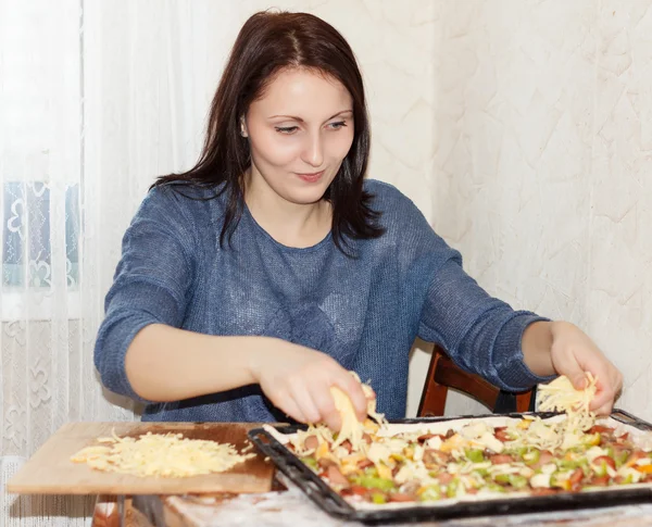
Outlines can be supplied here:
<path id="1" fill-rule="evenodd" d="M 141 478 L 104 473 L 71 456 L 97 438 L 138 437 L 152 434 L 183 434 L 189 439 L 230 443 L 242 450 L 247 432 L 261 425 L 251 423 L 70 423 L 62 426 L 9 480 L 7 490 L 23 494 L 186 494 L 214 492 L 267 492 L 274 465 L 258 454 L 228 472 L 187 478 Z M 255 448 L 248 450 L 255 452 Z"/>

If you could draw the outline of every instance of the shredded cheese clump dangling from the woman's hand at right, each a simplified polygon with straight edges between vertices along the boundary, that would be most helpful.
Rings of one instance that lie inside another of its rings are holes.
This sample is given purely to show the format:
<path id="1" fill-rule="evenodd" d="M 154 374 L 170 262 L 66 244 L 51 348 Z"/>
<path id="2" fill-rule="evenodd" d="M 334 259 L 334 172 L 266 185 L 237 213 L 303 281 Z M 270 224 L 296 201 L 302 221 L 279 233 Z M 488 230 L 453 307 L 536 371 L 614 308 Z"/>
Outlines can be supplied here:
<path id="1" fill-rule="evenodd" d="M 541 401 L 539 410 L 566 413 L 564 422 L 567 430 L 587 430 L 595 423 L 595 414 L 589 405 L 595 397 L 598 379 L 587 372 L 587 387 L 576 390 L 570 379 L 562 375 L 548 385 L 539 387 Z"/>

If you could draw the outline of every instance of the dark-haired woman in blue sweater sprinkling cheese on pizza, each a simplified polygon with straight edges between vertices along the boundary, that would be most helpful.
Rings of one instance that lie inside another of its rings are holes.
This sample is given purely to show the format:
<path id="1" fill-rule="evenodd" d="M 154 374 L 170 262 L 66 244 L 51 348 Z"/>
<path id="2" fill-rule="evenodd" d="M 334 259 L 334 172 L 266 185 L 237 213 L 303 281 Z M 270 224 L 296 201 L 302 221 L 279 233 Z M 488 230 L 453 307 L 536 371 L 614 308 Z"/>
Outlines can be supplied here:
<path id="1" fill-rule="evenodd" d="M 619 372 L 575 326 L 515 312 L 462 269 L 396 188 L 363 180 L 369 129 L 346 40 L 303 13 L 259 13 L 238 35 L 198 164 L 160 178 L 136 214 L 106 297 L 96 365 L 148 421 L 325 422 L 329 388 L 362 417 L 348 373 L 404 416 L 416 336 L 523 390 Z"/>

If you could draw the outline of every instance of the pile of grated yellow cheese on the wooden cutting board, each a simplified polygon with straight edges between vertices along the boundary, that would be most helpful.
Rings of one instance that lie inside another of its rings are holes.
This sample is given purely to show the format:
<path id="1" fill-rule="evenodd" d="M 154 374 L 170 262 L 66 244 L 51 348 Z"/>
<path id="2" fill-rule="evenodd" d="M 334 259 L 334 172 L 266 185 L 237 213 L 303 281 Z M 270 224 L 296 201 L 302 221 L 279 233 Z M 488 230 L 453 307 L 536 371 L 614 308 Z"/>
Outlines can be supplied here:
<path id="1" fill-rule="evenodd" d="M 139 477 L 184 478 L 225 472 L 254 453 L 241 454 L 234 446 L 184 438 L 183 434 L 148 432 L 138 438 L 99 438 L 71 457 L 98 470 Z"/>

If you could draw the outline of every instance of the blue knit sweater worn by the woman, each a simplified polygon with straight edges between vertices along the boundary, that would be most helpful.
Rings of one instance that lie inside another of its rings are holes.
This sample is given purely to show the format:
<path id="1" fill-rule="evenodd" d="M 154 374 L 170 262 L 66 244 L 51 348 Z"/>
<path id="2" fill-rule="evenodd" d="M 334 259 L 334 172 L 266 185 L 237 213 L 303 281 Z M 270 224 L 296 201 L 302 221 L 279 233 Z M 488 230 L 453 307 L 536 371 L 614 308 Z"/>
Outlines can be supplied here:
<path id="1" fill-rule="evenodd" d="M 305 249 L 283 246 L 247 209 L 231 247 L 221 248 L 224 197 L 201 201 L 170 187 L 151 190 L 125 234 L 106 296 L 95 349 L 104 386 L 142 401 L 127 380 L 125 353 L 154 323 L 278 337 L 323 351 L 371 380 L 379 411 L 390 418 L 405 414 L 408 354 L 416 336 L 502 388 L 542 380 L 521 351 L 525 327 L 541 317 L 488 296 L 464 273 L 460 253 L 394 187 L 365 186 L 387 233 L 352 241 L 358 259 L 342 254 L 330 235 Z M 258 386 L 145 402 L 145 421 L 287 421 Z"/>

